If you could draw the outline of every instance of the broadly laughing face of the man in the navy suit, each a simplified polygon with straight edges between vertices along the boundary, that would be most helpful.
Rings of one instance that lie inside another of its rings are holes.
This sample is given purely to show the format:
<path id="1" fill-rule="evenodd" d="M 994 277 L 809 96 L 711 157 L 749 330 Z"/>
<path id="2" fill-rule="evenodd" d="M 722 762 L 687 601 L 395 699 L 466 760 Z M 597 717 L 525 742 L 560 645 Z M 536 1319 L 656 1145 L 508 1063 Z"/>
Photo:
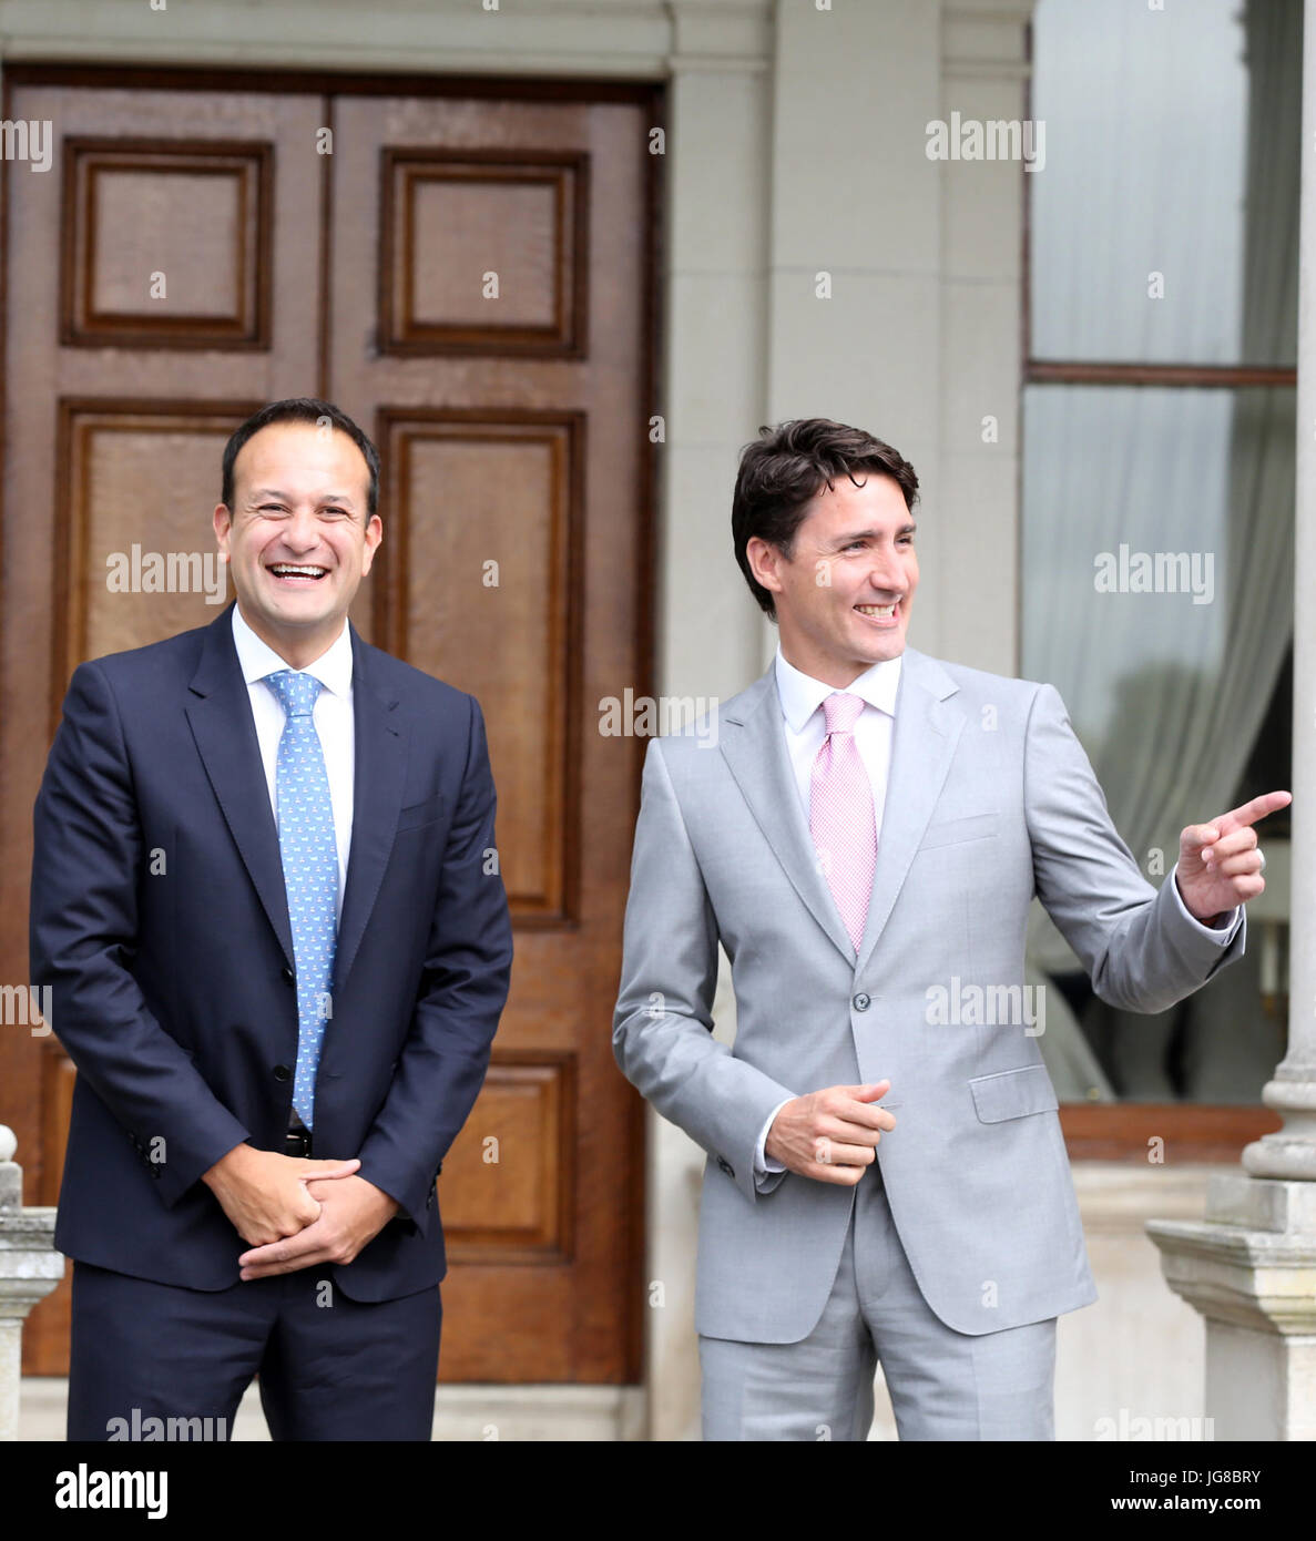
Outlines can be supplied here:
<path id="1" fill-rule="evenodd" d="M 216 507 L 216 539 L 243 621 L 294 669 L 337 640 L 370 572 L 384 525 L 367 515 L 368 493 L 361 450 L 310 422 L 260 428 L 234 461 L 234 507 Z"/>

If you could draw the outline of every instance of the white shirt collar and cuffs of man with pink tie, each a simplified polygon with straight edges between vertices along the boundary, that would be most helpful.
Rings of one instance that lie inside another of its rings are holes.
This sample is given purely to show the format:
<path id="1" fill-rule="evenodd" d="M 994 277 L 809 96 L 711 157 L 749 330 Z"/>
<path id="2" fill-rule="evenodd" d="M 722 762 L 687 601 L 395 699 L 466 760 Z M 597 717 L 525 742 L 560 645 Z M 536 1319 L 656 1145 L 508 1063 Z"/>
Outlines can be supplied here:
<path id="1" fill-rule="evenodd" d="M 869 781 L 872 781 L 872 812 L 878 846 L 881 844 L 881 815 L 886 807 L 886 783 L 891 772 L 891 735 L 895 730 L 895 692 L 900 686 L 900 664 L 901 655 L 877 663 L 872 669 L 864 670 L 858 680 L 840 692 L 841 695 L 860 695 L 864 700 L 864 707 L 855 720 L 854 737 L 860 760 L 863 760 Z M 828 737 L 826 713 L 821 710 L 821 706 L 823 701 L 834 692 L 835 686 L 824 684 L 821 680 L 814 680 L 811 675 L 801 673 L 795 669 L 794 664 L 786 663 L 781 656 L 781 647 L 778 646 L 777 695 L 781 703 L 786 752 L 791 757 L 791 767 L 795 772 L 795 784 L 800 791 L 800 801 L 804 807 L 806 824 L 809 823 L 814 760 L 817 760 L 818 750 L 823 747 L 823 740 Z M 1242 911 L 1236 908 L 1233 911 L 1233 922 L 1220 929 L 1216 929 L 1214 926 L 1204 926 L 1196 915 L 1188 914 L 1188 906 L 1183 903 L 1183 895 L 1179 892 L 1179 885 L 1174 881 L 1176 871 L 1177 863 L 1167 881 L 1174 889 L 1174 900 L 1179 905 L 1180 914 L 1190 925 L 1196 926 L 1202 935 L 1210 937 L 1219 946 L 1227 948 L 1230 942 L 1233 942 L 1234 932 L 1242 923 Z M 809 1089 L 814 1091 L 821 1088 Z M 767 1143 L 767 1131 L 772 1128 L 772 1120 L 786 1106 L 786 1102 L 791 1100 L 794 1099 L 787 1097 L 780 1102 L 772 1113 L 769 1113 L 767 1122 L 760 1130 L 758 1147 L 754 1153 L 754 1170 L 758 1176 L 786 1171 L 780 1162 L 767 1156 L 764 1147 Z"/>

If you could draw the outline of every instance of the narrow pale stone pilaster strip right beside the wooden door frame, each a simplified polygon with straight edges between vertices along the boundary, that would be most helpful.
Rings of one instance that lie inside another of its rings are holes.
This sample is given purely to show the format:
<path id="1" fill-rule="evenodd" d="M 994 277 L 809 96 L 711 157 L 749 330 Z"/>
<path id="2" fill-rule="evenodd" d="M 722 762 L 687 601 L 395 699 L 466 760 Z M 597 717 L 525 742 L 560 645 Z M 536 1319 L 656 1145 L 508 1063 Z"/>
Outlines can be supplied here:
<path id="1" fill-rule="evenodd" d="M 730 549 L 740 447 L 766 422 L 763 233 L 770 196 L 772 5 L 672 0 L 656 687 L 729 700 L 763 672 L 758 607 Z M 735 1019 L 723 960 L 717 1036 Z M 700 1436 L 695 1251 L 704 1153 L 647 1111 L 647 1438 Z"/>

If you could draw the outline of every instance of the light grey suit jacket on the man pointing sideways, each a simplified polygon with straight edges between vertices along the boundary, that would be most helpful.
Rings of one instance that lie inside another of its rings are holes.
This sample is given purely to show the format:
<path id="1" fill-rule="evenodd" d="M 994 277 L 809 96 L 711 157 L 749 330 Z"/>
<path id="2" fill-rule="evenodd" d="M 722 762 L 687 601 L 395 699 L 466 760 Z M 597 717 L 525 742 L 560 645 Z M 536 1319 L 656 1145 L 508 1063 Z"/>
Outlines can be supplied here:
<path id="1" fill-rule="evenodd" d="M 755 1143 L 783 1099 L 885 1079 L 897 1128 L 877 1148 L 881 1180 L 937 1316 L 988 1333 L 1091 1304 L 1056 1093 L 1012 1008 L 1028 999 L 1029 903 L 1040 897 L 1096 992 L 1128 1011 L 1163 1011 L 1240 957 L 1244 926 L 1222 948 L 1168 878 L 1146 883 L 1052 686 L 906 647 L 855 957 L 781 723 L 769 669 L 721 706 L 715 747 L 700 743 L 706 726 L 650 741 L 635 831 L 613 1046 L 709 1153 L 697 1331 L 798 1342 L 814 1328 L 855 1190 L 755 1180 Z M 718 942 L 734 1048 L 710 1031 Z M 969 1008 L 974 989 L 999 1009 Z"/>

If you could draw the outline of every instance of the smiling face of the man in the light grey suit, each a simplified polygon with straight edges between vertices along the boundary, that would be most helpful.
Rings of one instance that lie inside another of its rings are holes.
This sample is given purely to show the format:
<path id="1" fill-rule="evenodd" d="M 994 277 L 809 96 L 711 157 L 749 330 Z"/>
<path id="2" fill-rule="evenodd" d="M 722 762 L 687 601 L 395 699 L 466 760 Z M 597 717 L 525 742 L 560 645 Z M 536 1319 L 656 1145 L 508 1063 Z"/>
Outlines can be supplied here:
<path id="1" fill-rule="evenodd" d="M 809 502 L 791 556 L 754 536 L 754 576 L 770 590 L 789 664 L 838 690 L 905 652 L 918 558 L 914 519 L 892 476 L 855 472 Z"/>

